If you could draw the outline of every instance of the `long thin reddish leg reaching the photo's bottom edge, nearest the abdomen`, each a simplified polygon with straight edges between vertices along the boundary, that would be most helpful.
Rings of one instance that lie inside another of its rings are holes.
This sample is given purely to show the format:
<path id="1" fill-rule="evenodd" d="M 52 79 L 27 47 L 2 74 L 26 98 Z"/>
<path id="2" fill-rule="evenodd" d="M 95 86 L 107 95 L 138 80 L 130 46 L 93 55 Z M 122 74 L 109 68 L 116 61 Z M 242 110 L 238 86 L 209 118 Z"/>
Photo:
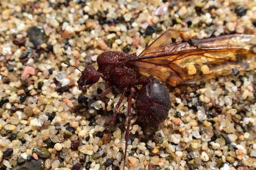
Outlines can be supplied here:
<path id="1" fill-rule="evenodd" d="M 133 93 L 131 93 L 128 97 L 128 121 L 127 121 L 127 128 L 125 131 L 125 156 L 123 158 L 123 170 L 125 170 L 125 159 L 126 159 L 126 152 L 127 152 L 127 143 L 129 141 L 129 133 L 130 133 L 130 125 L 131 125 L 131 99 L 133 98 Z"/>

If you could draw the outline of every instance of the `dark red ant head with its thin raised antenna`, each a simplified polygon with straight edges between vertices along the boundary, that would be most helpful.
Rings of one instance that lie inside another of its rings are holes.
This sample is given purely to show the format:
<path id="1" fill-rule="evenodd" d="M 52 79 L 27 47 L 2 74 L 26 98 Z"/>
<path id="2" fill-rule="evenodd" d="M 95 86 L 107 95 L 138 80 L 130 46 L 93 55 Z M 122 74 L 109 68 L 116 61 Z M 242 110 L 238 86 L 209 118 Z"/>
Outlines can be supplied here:
<path id="1" fill-rule="evenodd" d="M 68 63 L 65 63 L 68 66 Z M 97 83 L 98 80 L 100 79 L 100 73 L 98 73 L 97 70 L 94 69 L 93 66 L 88 66 L 85 67 L 84 71 L 81 71 L 77 66 L 72 66 L 76 67 L 77 70 L 79 70 L 82 75 L 80 76 L 79 80 L 77 80 L 77 83 L 79 84 L 79 90 L 86 92 L 86 85 L 91 85 L 94 83 Z"/>

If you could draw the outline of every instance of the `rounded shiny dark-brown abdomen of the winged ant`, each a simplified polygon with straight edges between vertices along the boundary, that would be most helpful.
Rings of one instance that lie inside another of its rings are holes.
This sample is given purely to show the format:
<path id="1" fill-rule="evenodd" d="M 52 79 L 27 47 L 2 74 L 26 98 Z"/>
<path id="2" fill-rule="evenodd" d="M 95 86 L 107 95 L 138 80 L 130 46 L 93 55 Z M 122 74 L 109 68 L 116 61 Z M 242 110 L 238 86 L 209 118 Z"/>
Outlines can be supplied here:
<path id="1" fill-rule="evenodd" d="M 138 121 L 155 126 L 166 120 L 171 100 L 165 84 L 158 79 L 145 84 L 136 97 Z"/>

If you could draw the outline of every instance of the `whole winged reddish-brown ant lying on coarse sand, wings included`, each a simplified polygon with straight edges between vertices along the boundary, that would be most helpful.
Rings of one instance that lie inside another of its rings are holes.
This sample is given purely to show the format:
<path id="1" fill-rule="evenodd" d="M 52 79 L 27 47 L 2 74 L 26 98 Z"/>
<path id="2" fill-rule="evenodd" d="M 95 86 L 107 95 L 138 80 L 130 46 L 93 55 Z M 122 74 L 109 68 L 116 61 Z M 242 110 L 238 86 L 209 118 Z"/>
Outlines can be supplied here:
<path id="1" fill-rule="evenodd" d="M 195 83 L 214 76 L 230 74 L 233 69 L 243 71 L 255 67 L 255 53 L 251 51 L 254 44 L 250 42 L 254 38 L 253 35 L 199 39 L 193 44 L 173 42 L 187 33 L 168 29 L 138 57 L 122 52 L 104 52 L 97 57 L 98 70 L 88 66 L 81 71 L 82 75 L 77 83 L 83 92 L 86 92 L 86 85 L 98 82 L 100 77 L 109 85 L 108 90 L 98 95 L 102 101 L 105 100 L 103 96 L 112 91 L 113 86 L 122 91 L 110 122 L 106 142 L 110 137 L 119 106 L 125 94 L 129 94 L 124 160 L 132 117 L 131 99 L 138 85 L 142 85 L 135 103 L 138 120 L 155 126 L 166 120 L 171 108 L 170 96 L 163 83 L 171 86 L 178 83 Z"/>

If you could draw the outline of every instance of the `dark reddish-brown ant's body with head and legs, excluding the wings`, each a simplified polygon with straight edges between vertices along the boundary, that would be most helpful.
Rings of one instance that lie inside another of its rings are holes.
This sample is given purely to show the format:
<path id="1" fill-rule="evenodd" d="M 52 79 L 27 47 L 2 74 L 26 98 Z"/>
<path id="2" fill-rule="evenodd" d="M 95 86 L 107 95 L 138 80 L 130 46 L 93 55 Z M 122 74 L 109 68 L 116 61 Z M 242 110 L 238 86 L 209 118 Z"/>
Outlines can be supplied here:
<path id="1" fill-rule="evenodd" d="M 143 85 L 136 97 L 137 116 L 139 122 L 143 122 L 143 124 L 149 126 L 158 125 L 162 121 L 166 120 L 168 112 L 171 109 L 171 100 L 166 85 L 153 76 L 149 76 L 148 78 L 140 78 L 139 71 L 133 69 L 129 63 L 127 63 L 127 61 L 135 57 L 136 56 L 134 54 L 128 55 L 121 52 L 109 51 L 101 53 L 100 56 L 97 57 L 98 70 L 94 69 L 93 66 L 86 67 L 84 71 L 80 70 L 82 75 L 77 81 L 79 84 L 79 90 L 86 92 L 86 85 L 91 85 L 98 82 L 100 77 L 104 79 L 109 85 L 109 88 L 105 92 L 98 95 L 102 101 L 105 101 L 103 96 L 109 94 L 109 92 L 112 91 L 113 86 L 119 87 L 123 90 L 121 98 L 119 99 L 113 112 L 106 143 L 109 141 L 110 133 L 112 131 L 119 106 L 122 103 L 126 92 L 129 93 L 127 100 L 128 121 L 125 133 L 126 143 L 124 163 L 127 152 L 127 142 L 129 140 L 129 127 L 132 117 L 131 99 L 133 94 L 136 92 L 136 86 Z M 68 63 L 65 64 L 69 65 Z M 76 67 L 76 69 L 79 70 L 78 67 Z"/>

